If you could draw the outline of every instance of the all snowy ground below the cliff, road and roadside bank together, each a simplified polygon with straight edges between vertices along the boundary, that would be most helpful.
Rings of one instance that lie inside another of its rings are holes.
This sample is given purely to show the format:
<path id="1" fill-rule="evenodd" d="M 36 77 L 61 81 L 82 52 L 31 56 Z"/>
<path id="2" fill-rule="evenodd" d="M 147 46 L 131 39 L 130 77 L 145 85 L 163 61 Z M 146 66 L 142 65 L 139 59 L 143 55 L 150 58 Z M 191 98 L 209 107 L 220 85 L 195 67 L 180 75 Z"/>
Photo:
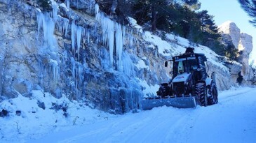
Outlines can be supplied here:
<path id="1" fill-rule="evenodd" d="M 255 142 L 255 93 L 248 87 L 231 89 L 209 107 L 156 107 L 113 115 L 34 91 L 31 98 L 1 103 L 21 115 L 0 117 L 0 142 Z M 50 110 L 62 103 L 68 105 L 67 117 L 63 110 Z"/>

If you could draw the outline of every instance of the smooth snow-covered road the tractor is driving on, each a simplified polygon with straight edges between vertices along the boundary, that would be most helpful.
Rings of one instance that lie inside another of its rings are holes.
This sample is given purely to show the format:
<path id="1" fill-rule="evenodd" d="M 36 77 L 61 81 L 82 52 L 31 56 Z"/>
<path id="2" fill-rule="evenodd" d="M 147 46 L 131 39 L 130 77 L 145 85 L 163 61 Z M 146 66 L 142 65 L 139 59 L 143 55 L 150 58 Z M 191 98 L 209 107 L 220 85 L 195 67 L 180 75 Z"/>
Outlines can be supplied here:
<path id="1" fill-rule="evenodd" d="M 256 142 L 256 89 L 224 91 L 210 107 L 109 116 L 29 142 Z"/>

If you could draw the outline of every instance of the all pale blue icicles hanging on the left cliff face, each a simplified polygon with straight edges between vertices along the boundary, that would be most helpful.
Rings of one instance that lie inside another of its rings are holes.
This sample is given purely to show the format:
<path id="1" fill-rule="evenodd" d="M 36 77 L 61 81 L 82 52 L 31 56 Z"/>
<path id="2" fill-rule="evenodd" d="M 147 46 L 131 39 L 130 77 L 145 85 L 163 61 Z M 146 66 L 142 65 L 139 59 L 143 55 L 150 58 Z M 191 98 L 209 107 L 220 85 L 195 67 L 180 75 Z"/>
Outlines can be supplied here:
<path id="1" fill-rule="evenodd" d="M 67 38 L 68 31 L 71 31 L 71 41 L 72 41 L 72 52 L 74 59 L 79 60 L 79 52 L 82 45 L 82 40 L 86 41 L 86 43 L 90 43 L 90 29 L 85 29 L 81 26 L 76 25 L 75 20 L 69 21 L 69 19 L 65 17 L 61 17 L 58 15 L 59 7 L 58 3 L 51 0 L 53 11 L 51 13 L 41 13 L 39 12 L 37 15 L 37 22 L 38 22 L 38 33 L 43 34 L 43 46 L 47 47 L 50 51 L 54 51 L 58 47 L 58 43 L 56 42 L 56 38 L 54 36 L 55 29 L 57 31 L 62 32 L 62 35 Z M 65 1 L 67 9 L 69 9 L 70 1 Z M 91 8 L 91 6 L 90 6 Z M 133 36 L 130 33 L 126 34 L 126 27 L 122 26 L 121 24 L 114 22 L 109 19 L 109 17 L 105 16 L 105 13 L 100 11 L 99 6 L 97 3 L 95 4 L 95 19 L 99 22 L 100 26 L 102 27 L 102 43 L 106 45 L 109 50 L 109 68 L 113 69 L 114 63 L 114 50 L 116 50 L 116 70 L 126 73 L 126 68 L 123 63 L 123 45 L 125 40 L 128 40 L 128 45 L 133 45 Z M 96 30 L 96 29 L 95 29 Z M 96 33 L 96 31 L 95 31 Z M 131 32 L 132 33 L 132 32 Z M 98 40 L 97 40 L 98 41 Z M 115 47 L 114 47 L 115 46 Z M 76 66 L 78 61 L 72 60 L 72 65 Z M 58 69 L 58 62 L 55 60 L 50 60 L 50 69 L 51 73 L 53 73 L 54 81 L 58 81 L 59 77 L 59 69 Z M 73 70 L 76 68 L 73 67 Z M 79 73 L 81 73 L 81 69 Z M 74 72 L 74 73 L 73 73 Z M 76 71 L 73 71 L 72 74 L 76 77 L 76 74 L 79 74 Z M 77 85 L 76 85 L 77 86 Z"/>

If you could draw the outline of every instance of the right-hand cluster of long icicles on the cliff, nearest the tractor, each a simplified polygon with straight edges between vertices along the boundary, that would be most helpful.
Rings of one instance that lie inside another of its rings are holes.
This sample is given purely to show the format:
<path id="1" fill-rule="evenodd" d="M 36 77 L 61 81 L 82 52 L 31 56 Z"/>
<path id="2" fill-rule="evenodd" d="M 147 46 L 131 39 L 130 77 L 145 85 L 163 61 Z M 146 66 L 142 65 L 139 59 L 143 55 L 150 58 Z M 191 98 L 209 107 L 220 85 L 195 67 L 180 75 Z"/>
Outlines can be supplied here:
<path id="1" fill-rule="evenodd" d="M 126 62 L 132 62 L 130 60 L 130 57 L 128 54 L 126 54 L 125 59 L 123 59 L 123 45 L 124 43 L 127 43 L 128 46 L 132 47 L 134 44 L 134 38 L 133 38 L 133 29 L 128 31 L 126 33 L 126 27 L 122 27 L 121 24 L 118 24 L 117 22 L 114 22 L 109 19 L 109 17 L 106 17 L 104 13 L 100 12 L 99 6 L 95 4 L 95 19 L 97 22 L 100 23 L 102 27 L 102 43 L 104 45 L 107 45 L 109 49 L 109 65 L 110 68 L 113 68 L 113 50 L 114 50 L 114 42 L 116 45 L 116 69 L 124 72 L 128 75 L 132 73 L 133 68 L 130 66 L 132 63 L 126 63 Z M 95 26 L 95 31 L 96 31 Z M 126 42 L 127 40 L 127 42 Z M 124 61 L 126 60 L 126 61 Z M 129 67 L 126 67 L 126 66 Z"/>

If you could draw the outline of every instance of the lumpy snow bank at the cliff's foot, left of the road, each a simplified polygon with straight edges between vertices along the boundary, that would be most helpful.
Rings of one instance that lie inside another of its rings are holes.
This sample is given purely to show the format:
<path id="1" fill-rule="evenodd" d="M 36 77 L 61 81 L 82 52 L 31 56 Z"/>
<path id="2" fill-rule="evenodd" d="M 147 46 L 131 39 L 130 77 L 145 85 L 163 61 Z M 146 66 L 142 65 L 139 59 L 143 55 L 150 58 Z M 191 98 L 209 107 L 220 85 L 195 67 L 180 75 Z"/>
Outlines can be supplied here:
<path id="1" fill-rule="evenodd" d="M 70 101 L 65 95 L 58 99 L 42 91 L 32 91 L 29 98 L 20 95 L 4 100 L 0 105 L 0 112 L 2 110 L 7 110 L 8 116 L 0 117 L 1 142 L 25 142 L 28 138 L 38 138 L 113 116 L 92 110 L 85 103 Z"/>

